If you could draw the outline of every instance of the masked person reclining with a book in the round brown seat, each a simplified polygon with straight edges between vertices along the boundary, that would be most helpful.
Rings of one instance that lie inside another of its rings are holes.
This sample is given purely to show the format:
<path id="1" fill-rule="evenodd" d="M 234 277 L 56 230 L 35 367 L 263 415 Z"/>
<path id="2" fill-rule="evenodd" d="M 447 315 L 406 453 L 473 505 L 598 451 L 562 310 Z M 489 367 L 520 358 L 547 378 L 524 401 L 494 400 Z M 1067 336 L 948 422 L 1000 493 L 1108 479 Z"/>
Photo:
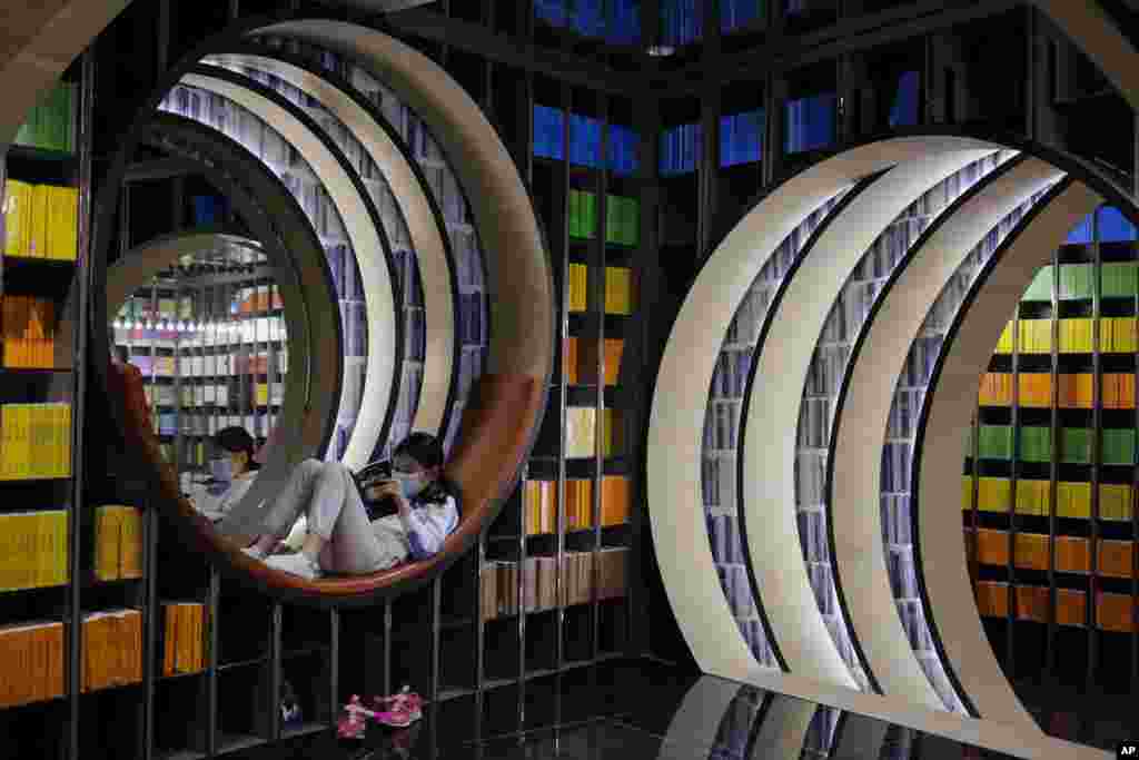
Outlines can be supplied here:
<path id="1" fill-rule="evenodd" d="M 409 435 L 392 455 L 392 480 L 366 493 L 372 500 L 392 499 L 396 513 L 372 521 L 347 467 L 306 459 L 263 506 L 265 532 L 244 551 L 270 567 L 309 579 L 371 573 L 409 557 L 431 557 L 459 524 L 458 504 L 442 468 L 443 448 L 435 436 Z M 302 518 L 304 525 L 298 526 Z M 271 555 L 297 528 L 306 533 L 300 553 Z"/>

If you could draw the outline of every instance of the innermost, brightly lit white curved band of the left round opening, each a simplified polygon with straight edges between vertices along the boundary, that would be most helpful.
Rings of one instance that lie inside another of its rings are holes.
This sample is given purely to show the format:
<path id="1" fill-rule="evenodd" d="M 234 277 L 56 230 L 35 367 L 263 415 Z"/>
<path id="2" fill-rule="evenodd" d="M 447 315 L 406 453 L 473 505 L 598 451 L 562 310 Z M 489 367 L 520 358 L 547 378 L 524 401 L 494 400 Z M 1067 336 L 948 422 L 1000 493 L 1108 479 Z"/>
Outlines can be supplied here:
<path id="1" fill-rule="evenodd" d="M 359 469 L 368 464 L 379 438 L 384 415 L 388 406 L 394 403 L 392 390 L 399 369 L 395 366 L 395 294 L 392 291 L 384 245 L 371 223 L 368 206 L 335 155 L 285 108 L 252 90 L 203 74 L 187 74 L 181 83 L 228 98 L 272 124 L 273 129 L 296 146 L 312 166 L 344 221 L 344 229 L 360 265 L 368 314 L 368 358 L 360 410 L 341 458 L 349 468 Z M 245 506 L 247 505 L 243 502 L 240 508 Z"/>

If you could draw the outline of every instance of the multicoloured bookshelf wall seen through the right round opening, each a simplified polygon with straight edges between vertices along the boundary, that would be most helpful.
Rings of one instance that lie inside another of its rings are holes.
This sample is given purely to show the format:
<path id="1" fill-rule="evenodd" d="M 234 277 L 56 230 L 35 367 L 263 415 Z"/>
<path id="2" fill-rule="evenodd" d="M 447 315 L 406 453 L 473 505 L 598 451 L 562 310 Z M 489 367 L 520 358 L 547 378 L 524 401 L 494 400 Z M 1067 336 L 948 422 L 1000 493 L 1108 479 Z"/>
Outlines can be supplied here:
<path id="1" fill-rule="evenodd" d="M 1100 207 L 1038 272 L 981 379 L 962 517 L 1006 671 L 1139 680 L 1134 228 Z"/>

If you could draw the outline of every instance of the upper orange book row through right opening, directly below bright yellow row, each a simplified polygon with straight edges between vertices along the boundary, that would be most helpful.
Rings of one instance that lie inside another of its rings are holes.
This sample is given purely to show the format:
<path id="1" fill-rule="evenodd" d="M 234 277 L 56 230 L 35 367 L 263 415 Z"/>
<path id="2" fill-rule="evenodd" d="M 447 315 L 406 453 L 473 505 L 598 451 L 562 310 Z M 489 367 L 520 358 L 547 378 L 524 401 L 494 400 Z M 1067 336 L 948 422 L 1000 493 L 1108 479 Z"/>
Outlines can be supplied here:
<path id="1" fill-rule="evenodd" d="M 1060 409 L 1091 409 L 1095 378 L 1090 373 L 1057 375 L 1057 403 Z M 1052 378 L 1048 373 L 1016 375 L 1022 407 L 1047 409 L 1052 404 Z M 1013 375 L 985 373 L 981 377 L 977 399 L 983 407 L 1013 404 Z M 1134 409 L 1136 378 L 1132 374 L 1105 374 L 1100 382 L 1100 406 L 1104 409 Z"/>

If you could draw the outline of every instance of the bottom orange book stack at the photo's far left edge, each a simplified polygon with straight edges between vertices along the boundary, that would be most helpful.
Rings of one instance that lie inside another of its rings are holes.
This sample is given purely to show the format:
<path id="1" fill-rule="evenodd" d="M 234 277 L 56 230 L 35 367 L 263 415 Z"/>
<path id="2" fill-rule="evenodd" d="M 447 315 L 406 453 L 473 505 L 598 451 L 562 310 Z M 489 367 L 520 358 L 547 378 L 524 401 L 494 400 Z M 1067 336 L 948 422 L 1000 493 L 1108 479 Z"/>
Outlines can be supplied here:
<path id="1" fill-rule="evenodd" d="M 0 708 L 64 694 L 64 624 L 59 621 L 0 627 Z"/>

